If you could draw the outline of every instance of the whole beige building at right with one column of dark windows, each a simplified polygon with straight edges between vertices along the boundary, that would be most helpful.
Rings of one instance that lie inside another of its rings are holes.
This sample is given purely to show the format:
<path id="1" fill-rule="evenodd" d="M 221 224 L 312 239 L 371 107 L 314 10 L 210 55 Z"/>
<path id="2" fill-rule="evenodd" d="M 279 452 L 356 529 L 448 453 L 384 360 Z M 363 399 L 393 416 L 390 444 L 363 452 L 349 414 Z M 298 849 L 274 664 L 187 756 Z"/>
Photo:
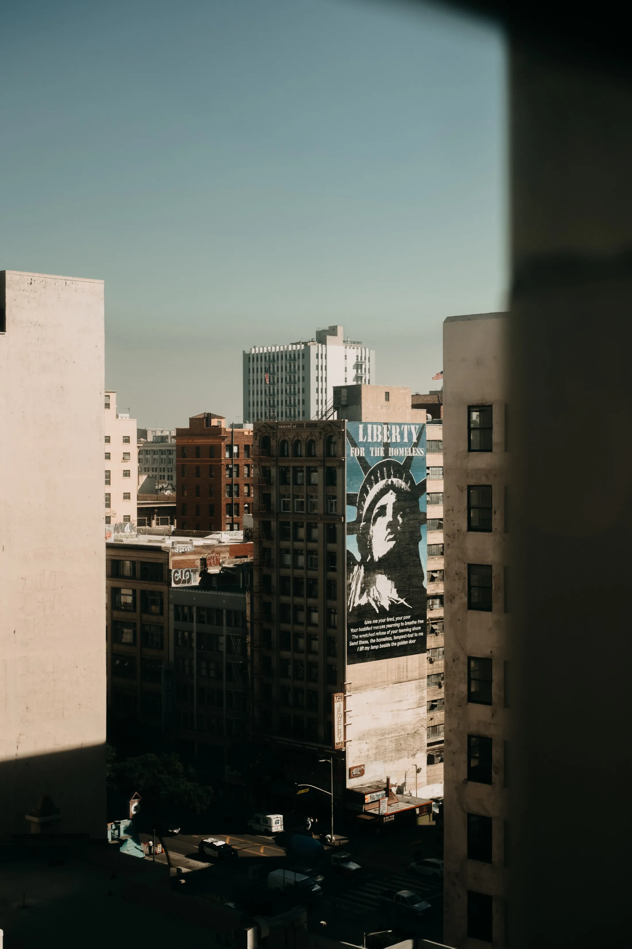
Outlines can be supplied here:
<path id="1" fill-rule="evenodd" d="M 444 940 L 458 949 L 507 945 L 507 324 L 443 324 Z"/>

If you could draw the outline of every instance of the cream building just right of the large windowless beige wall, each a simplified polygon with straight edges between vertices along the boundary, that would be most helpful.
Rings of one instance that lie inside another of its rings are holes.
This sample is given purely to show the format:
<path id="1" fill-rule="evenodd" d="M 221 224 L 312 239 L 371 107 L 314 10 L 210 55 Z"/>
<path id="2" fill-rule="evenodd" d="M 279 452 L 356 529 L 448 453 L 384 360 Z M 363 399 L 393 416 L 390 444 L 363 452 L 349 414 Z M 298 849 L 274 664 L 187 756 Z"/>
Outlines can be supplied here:
<path id="1" fill-rule="evenodd" d="M 136 420 L 117 412 L 117 393 L 105 393 L 105 523 L 129 524 L 136 519 L 138 449 Z"/>

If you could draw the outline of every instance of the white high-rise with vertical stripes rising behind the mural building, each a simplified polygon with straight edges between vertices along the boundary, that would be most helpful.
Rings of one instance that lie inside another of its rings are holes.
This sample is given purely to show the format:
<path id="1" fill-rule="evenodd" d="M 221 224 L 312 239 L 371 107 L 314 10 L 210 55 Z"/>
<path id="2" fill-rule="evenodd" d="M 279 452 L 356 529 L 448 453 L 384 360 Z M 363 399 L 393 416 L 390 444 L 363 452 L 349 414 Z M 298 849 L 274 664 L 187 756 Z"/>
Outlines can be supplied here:
<path id="1" fill-rule="evenodd" d="M 375 350 L 345 340 L 342 326 L 316 330 L 308 342 L 244 350 L 244 420 L 323 419 L 334 385 L 370 384 Z"/>

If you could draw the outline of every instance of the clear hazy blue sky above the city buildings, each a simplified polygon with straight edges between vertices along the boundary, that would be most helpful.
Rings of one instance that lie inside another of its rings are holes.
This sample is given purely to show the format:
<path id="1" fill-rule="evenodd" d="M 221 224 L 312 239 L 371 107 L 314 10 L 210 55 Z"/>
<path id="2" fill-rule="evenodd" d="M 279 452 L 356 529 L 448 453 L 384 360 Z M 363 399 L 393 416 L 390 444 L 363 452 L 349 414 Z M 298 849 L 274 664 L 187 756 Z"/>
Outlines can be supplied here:
<path id="1" fill-rule="evenodd" d="M 0 38 L 0 269 L 100 277 L 139 424 L 241 419 L 242 350 L 342 324 L 427 391 L 504 307 L 494 28 L 362 0 L 20 0 Z"/>

